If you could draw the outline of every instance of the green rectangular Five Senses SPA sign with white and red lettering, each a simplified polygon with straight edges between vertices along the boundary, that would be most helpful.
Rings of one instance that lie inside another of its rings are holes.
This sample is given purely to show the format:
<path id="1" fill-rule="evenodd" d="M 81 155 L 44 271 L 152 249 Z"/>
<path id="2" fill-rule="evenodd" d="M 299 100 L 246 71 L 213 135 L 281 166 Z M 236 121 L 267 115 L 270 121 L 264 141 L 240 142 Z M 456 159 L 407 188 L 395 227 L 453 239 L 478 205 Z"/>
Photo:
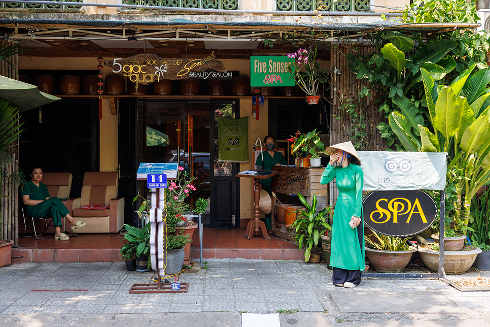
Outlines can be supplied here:
<path id="1" fill-rule="evenodd" d="M 294 86 L 288 70 L 294 60 L 286 56 L 250 57 L 250 86 Z"/>

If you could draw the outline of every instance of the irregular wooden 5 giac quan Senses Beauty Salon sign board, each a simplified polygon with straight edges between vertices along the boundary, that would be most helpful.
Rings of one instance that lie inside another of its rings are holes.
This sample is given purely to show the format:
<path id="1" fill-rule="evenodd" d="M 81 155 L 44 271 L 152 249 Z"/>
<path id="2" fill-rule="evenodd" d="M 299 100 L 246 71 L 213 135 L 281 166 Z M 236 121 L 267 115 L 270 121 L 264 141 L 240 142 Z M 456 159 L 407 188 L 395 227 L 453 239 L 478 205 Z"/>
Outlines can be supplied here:
<path id="1" fill-rule="evenodd" d="M 212 74 L 213 72 L 226 72 L 223 62 L 215 59 L 214 51 L 208 57 L 193 60 L 163 59 L 152 53 L 141 53 L 129 58 L 115 58 L 112 62 L 104 61 L 104 65 L 111 67 L 113 73 L 123 72 L 131 82 L 136 83 L 136 87 L 138 83 L 148 85 L 160 79 L 188 79 L 191 72 L 206 73 L 192 74 L 193 79 L 231 78 L 231 73 L 227 73 L 226 76 L 225 74 Z"/>

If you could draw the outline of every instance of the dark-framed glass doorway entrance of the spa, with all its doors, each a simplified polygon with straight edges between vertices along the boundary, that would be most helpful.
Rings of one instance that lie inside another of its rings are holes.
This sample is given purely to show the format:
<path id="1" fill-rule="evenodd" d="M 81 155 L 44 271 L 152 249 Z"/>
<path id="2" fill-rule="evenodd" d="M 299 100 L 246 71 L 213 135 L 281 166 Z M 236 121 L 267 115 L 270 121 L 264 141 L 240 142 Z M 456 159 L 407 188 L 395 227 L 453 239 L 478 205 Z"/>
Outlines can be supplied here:
<path id="1" fill-rule="evenodd" d="M 198 198 L 209 201 L 209 220 L 204 223 L 211 227 L 238 224 L 238 221 L 235 222 L 235 217 L 239 216 L 238 179 L 235 177 L 238 168 L 237 164 L 220 161 L 218 158 L 216 120 L 218 116 L 234 117 L 238 108 L 237 101 L 137 100 L 137 103 L 133 103 L 137 119 L 132 118 L 134 116 L 130 113 L 131 103 L 124 103 L 129 106 L 124 109 L 125 106 L 120 103 L 120 160 L 131 157 L 133 151 L 129 143 L 135 143 L 136 155 L 133 154 L 133 157 L 138 160 L 133 165 L 136 167 L 138 162 L 179 162 L 186 173 L 195 177 L 193 184 L 197 190 L 187 199 L 189 204 L 193 206 Z M 131 124 L 135 124 L 134 139 L 131 135 L 125 136 L 131 129 Z M 135 174 L 125 174 L 127 164 L 120 164 L 121 178 L 126 175 L 128 177 L 127 183 L 121 180 L 121 186 L 126 185 L 126 188 L 132 189 L 130 179 Z M 138 189 L 140 194 L 146 196 L 144 182 L 137 184 L 132 189 L 134 196 Z M 134 208 L 129 208 L 132 209 Z"/>

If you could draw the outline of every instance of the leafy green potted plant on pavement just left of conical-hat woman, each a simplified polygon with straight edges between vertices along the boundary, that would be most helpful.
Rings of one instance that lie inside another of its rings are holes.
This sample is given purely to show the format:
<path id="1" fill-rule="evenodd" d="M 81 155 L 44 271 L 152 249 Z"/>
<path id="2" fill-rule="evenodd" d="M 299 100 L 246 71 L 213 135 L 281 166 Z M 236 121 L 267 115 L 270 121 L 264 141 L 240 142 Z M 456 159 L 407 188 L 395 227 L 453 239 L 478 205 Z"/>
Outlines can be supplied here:
<path id="1" fill-rule="evenodd" d="M 289 230 L 294 230 L 294 239 L 298 244 L 299 250 L 305 247 L 304 260 L 308 261 L 311 256 L 313 246 L 318 246 L 320 235 L 325 234 L 325 231 L 332 230 L 332 227 L 325 220 L 330 214 L 332 207 L 328 206 L 317 211 L 317 195 L 313 194 L 311 198 L 311 206 L 308 205 L 306 199 L 298 193 L 298 198 L 305 206 L 306 210 L 297 211 L 296 220 L 293 222 Z"/>

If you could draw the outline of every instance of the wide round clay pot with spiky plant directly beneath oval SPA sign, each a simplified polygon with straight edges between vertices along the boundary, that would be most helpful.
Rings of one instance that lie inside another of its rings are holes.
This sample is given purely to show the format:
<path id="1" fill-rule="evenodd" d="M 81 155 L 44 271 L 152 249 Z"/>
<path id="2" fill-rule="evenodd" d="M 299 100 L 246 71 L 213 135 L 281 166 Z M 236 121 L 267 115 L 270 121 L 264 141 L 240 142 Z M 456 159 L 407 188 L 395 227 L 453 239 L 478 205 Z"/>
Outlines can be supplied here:
<path id="1" fill-rule="evenodd" d="M 371 240 L 374 236 L 375 241 Z M 417 249 L 407 245 L 410 237 L 379 236 L 376 232 L 364 236 L 366 256 L 371 265 L 381 273 L 401 273 Z"/>

